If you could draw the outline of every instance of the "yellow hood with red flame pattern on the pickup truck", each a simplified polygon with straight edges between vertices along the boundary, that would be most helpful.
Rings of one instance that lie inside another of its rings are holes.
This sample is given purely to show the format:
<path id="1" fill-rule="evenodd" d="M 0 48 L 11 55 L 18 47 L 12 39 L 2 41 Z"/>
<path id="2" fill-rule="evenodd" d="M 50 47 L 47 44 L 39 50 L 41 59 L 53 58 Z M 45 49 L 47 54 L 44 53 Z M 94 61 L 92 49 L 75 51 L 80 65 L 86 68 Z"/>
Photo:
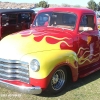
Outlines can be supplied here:
<path id="1" fill-rule="evenodd" d="M 68 49 L 73 45 L 69 32 L 57 28 L 34 28 L 11 34 L 0 42 L 0 58 L 19 59 L 25 54 Z"/>

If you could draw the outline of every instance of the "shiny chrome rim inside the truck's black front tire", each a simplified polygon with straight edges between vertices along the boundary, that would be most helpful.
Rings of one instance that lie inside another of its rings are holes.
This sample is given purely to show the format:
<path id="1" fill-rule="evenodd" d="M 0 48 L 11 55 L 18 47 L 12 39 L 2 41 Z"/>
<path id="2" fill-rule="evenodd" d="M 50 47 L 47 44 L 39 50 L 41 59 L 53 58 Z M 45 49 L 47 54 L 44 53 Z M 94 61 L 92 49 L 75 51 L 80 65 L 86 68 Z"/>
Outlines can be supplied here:
<path id="1" fill-rule="evenodd" d="M 52 86 L 52 89 L 57 91 L 57 90 L 60 90 L 64 83 L 65 83 L 65 80 L 66 80 L 66 75 L 65 75 L 65 72 L 64 70 L 62 69 L 58 69 L 52 79 L 51 79 L 51 86 Z"/>

